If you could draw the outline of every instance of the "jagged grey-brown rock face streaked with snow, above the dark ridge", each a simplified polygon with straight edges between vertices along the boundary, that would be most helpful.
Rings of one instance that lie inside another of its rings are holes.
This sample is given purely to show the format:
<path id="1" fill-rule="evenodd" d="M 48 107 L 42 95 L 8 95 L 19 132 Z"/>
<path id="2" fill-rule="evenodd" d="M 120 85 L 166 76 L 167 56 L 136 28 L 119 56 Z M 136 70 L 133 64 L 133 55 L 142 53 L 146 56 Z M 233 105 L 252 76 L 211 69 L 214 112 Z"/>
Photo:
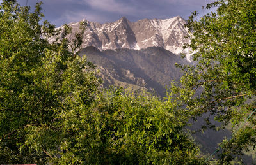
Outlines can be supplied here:
<path id="1" fill-rule="evenodd" d="M 161 47 L 173 54 L 182 52 L 182 45 L 188 43 L 184 38 L 188 29 L 184 27 L 186 21 L 180 16 L 170 19 L 144 19 L 130 22 L 122 17 L 116 22 L 99 24 L 87 22 L 88 27 L 83 36 L 83 47 L 93 46 L 99 50 L 115 50 L 128 48 L 141 50 L 148 47 Z M 72 34 L 68 38 L 74 38 L 79 31 L 79 22 L 68 24 L 72 27 Z M 188 54 L 188 50 L 185 53 Z M 187 56 L 189 60 L 189 55 Z"/>

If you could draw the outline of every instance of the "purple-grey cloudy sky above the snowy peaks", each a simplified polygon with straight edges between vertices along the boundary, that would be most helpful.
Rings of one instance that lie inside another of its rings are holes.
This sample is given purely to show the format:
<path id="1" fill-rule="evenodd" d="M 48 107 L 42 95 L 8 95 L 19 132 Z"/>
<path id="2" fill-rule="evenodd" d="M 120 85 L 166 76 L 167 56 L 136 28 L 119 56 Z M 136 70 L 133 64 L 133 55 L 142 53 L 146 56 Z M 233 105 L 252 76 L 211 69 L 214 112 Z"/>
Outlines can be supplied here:
<path id="1" fill-rule="evenodd" d="M 22 6 L 35 6 L 39 0 L 17 0 Z M 135 22 L 143 18 L 188 19 L 192 11 L 207 13 L 202 6 L 213 0 L 42 0 L 45 19 L 57 27 L 79 20 L 114 22 L 121 17 Z M 0 1 L 1 2 L 1 1 Z"/>

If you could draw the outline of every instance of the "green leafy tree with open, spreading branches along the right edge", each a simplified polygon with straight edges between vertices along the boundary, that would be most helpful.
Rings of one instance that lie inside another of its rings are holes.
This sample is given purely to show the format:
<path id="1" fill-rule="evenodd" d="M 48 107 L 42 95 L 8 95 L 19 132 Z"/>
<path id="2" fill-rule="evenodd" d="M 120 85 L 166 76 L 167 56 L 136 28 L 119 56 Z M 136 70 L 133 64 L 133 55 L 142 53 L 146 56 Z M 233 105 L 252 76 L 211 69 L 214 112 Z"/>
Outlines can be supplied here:
<path id="1" fill-rule="evenodd" d="M 191 42 L 185 47 L 195 52 L 196 64 L 180 66 L 184 72 L 180 82 L 186 96 L 190 95 L 187 108 L 196 116 L 207 113 L 225 125 L 232 123 L 233 138 L 221 143 L 220 156 L 221 162 L 230 162 L 256 142 L 256 113 L 252 114 L 256 108 L 256 1 L 220 0 L 207 5 L 207 9 L 213 7 L 216 12 L 199 20 L 196 12 L 189 17 Z M 250 114 L 247 124 L 235 130 Z"/>

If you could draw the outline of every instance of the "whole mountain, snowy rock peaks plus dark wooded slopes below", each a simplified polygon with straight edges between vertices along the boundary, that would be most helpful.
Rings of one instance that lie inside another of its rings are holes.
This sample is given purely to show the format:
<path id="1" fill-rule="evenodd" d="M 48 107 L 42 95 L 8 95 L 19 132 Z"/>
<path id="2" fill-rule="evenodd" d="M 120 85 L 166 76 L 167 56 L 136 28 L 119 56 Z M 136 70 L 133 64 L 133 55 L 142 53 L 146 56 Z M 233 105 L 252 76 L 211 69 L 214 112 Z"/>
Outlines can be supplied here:
<path id="1" fill-rule="evenodd" d="M 80 55 L 86 54 L 88 61 L 98 66 L 106 86 L 125 86 L 136 90 L 145 87 L 164 96 L 163 86 L 170 85 L 172 80 L 179 80 L 181 76 L 175 63 L 191 62 L 188 50 L 185 51 L 187 60 L 179 56 L 183 44 L 189 42 L 185 38 L 188 35 L 188 29 L 184 27 L 186 21 L 180 16 L 137 22 L 122 17 L 106 24 L 86 23 Z M 80 31 L 80 22 L 68 25 L 72 32 L 67 39 L 75 39 Z M 58 27 L 60 30 L 63 28 Z"/>

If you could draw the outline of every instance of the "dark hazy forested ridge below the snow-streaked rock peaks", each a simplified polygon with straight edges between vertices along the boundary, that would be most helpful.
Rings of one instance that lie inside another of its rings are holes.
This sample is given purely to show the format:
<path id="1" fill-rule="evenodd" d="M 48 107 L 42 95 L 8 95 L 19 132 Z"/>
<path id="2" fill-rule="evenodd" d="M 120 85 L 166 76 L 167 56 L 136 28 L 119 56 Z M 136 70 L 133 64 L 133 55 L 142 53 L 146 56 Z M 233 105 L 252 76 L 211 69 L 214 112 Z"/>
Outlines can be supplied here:
<path id="1" fill-rule="evenodd" d="M 89 46 L 81 50 L 80 55 L 86 55 L 88 61 L 98 66 L 98 75 L 103 78 L 104 85 L 123 86 L 133 91 L 154 90 L 162 97 L 164 85 L 182 76 L 175 63 L 188 64 L 186 59 L 160 47 L 100 51 Z"/>

